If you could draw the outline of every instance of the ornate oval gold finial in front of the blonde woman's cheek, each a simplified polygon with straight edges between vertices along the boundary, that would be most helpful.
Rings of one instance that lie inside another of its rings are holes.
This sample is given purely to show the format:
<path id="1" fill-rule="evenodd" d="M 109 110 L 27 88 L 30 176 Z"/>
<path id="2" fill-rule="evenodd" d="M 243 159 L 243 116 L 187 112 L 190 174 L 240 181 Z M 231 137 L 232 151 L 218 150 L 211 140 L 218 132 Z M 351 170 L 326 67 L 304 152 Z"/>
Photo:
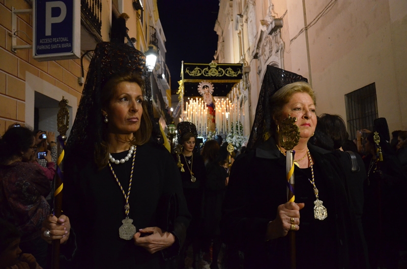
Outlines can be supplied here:
<path id="1" fill-rule="evenodd" d="M 279 142 L 285 150 L 292 150 L 300 142 L 300 128 L 296 125 L 297 118 L 288 118 L 279 124 Z"/>

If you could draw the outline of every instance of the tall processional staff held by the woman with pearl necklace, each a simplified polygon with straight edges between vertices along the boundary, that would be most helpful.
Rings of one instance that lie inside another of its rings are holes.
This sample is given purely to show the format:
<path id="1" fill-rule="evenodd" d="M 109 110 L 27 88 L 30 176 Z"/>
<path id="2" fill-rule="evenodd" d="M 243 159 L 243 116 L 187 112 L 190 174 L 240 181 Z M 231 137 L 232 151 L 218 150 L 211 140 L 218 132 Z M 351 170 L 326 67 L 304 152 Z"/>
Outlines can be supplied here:
<path id="1" fill-rule="evenodd" d="M 69 128 L 69 111 L 67 108 L 68 100 L 62 96 L 62 100 L 58 105 L 60 110 L 57 114 L 57 129 L 60 135 L 56 140 L 56 174 L 55 174 L 55 192 L 54 192 L 54 212 L 53 214 L 59 218 L 62 214 L 62 189 L 64 187 L 64 155 L 65 143 L 67 140 L 67 130 Z M 60 267 L 60 240 L 52 241 L 52 260 L 51 268 L 58 269 Z"/>

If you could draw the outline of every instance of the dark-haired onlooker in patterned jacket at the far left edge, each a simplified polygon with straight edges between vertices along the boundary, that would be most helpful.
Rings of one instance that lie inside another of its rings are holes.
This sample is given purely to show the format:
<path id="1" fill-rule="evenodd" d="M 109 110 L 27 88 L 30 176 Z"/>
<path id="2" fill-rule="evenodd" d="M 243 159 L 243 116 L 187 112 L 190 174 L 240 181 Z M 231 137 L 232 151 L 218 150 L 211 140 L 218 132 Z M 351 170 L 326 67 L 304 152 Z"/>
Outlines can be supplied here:
<path id="1" fill-rule="evenodd" d="M 45 267 L 47 243 L 41 226 L 49 214 L 44 198 L 51 184 L 38 164 L 33 163 L 37 146 L 32 130 L 14 125 L 0 141 L 0 217 L 21 233 L 20 248 Z"/>

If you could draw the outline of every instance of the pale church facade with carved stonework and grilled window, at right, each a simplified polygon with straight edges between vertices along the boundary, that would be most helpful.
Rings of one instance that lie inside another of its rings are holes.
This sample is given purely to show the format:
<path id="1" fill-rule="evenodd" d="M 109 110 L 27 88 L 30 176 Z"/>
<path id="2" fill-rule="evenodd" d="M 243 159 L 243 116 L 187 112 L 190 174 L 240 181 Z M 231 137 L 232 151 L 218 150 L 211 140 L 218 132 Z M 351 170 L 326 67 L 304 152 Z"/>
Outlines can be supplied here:
<path id="1" fill-rule="evenodd" d="M 306 78 L 317 114 L 339 114 L 348 131 L 385 117 L 407 129 L 407 2 L 220 1 L 218 62 L 245 63 L 250 125 L 267 65 Z"/>

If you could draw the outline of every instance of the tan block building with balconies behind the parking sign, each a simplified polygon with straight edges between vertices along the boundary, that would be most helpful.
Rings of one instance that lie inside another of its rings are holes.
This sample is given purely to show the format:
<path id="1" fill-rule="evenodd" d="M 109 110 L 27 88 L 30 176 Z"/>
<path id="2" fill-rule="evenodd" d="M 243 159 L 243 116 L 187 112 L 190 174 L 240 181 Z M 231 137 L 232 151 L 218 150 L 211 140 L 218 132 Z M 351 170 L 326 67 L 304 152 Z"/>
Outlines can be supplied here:
<path id="1" fill-rule="evenodd" d="M 69 101 L 72 126 L 83 90 L 78 79 L 86 79 L 92 57 L 92 52 L 84 54 L 93 50 L 97 43 L 110 40 L 111 21 L 123 12 L 130 16 L 126 24 L 128 36 L 136 39 L 133 46 L 140 51 L 149 49 L 151 36 L 156 33 L 155 48 L 159 49 L 159 57 L 152 76 L 161 95 L 156 100 L 161 102 L 154 105 L 158 117 L 162 118 L 164 113 L 161 110 L 165 103 L 170 103 L 170 75 L 165 64 L 165 36 L 159 21 L 157 1 L 139 0 L 142 10 L 137 10 L 131 0 L 85 0 L 81 3 L 81 27 L 77 35 L 81 40 L 82 63 L 81 59 L 40 62 L 33 59 L 32 49 L 12 50 L 13 35 L 17 45 L 32 45 L 32 14 L 17 14 L 15 31 L 12 28 L 13 8 L 32 9 L 32 2 L 0 0 L 0 135 L 15 122 L 56 131 L 57 105 L 62 96 Z M 93 5 L 98 8 L 92 9 Z"/>

